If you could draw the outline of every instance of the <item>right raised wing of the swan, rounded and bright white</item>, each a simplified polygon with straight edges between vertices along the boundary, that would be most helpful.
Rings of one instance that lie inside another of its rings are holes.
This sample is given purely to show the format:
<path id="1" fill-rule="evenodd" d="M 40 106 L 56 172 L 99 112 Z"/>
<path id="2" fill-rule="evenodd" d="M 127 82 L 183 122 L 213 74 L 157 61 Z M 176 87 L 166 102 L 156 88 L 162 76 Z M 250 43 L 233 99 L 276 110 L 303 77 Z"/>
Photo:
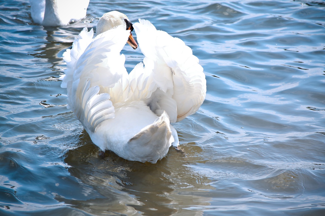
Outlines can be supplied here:
<path id="1" fill-rule="evenodd" d="M 172 123 L 194 114 L 206 94 L 199 59 L 182 40 L 156 30 L 148 20 L 139 19 L 133 27 L 145 55 L 144 71 L 157 86 L 149 100 L 150 108 L 156 114 L 165 110 Z"/>

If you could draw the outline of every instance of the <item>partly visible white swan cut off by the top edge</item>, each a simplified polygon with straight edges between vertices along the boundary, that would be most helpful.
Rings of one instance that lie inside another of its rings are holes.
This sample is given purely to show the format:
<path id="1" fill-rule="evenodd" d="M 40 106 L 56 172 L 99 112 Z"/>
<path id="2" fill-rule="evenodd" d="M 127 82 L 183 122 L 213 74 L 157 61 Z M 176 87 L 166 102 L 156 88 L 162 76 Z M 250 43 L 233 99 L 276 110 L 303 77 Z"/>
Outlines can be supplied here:
<path id="1" fill-rule="evenodd" d="M 86 16 L 89 0 L 30 0 L 35 23 L 43 26 L 65 26 Z"/>

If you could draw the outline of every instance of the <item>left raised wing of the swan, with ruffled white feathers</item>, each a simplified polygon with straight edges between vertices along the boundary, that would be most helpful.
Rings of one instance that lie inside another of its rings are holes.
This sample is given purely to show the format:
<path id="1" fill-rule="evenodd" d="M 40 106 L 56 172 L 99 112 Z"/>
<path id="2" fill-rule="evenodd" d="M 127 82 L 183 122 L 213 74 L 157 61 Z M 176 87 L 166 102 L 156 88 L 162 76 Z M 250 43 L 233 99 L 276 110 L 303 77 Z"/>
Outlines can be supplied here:
<path id="1" fill-rule="evenodd" d="M 93 37 L 85 28 L 73 42 L 72 49 L 63 54 L 67 69 L 61 76 L 62 88 L 68 91 L 68 108 L 87 132 L 114 117 L 113 103 L 128 94 L 128 74 L 125 57 L 120 51 L 130 31 L 116 28 Z M 127 90 L 124 93 L 124 90 Z M 114 97 L 113 97 L 114 96 Z"/>

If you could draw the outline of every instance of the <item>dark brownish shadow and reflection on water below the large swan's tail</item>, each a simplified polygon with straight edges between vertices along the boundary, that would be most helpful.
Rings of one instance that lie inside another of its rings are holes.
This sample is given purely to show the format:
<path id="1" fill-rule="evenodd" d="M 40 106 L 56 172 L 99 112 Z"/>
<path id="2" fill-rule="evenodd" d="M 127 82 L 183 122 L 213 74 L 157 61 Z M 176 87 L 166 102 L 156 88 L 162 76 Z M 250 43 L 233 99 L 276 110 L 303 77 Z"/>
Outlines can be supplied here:
<path id="1" fill-rule="evenodd" d="M 207 176 L 191 170 L 187 155 L 170 148 L 166 158 L 156 164 L 127 161 L 111 151 L 105 158 L 98 157 L 98 147 L 90 144 L 85 130 L 79 138 L 80 146 L 69 150 L 64 160 L 69 173 L 80 179 L 80 184 L 91 186 L 102 198 L 77 200 L 57 198 L 89 213 L 138 215 L 173 215 L 179 212 L 173 205 L 208 206 L 204 189 L 213 189 Z M 199 150 L 200 151 L 200 150 Z M 191 152 L 190 154 L 194 154 Z M 200 185 L 200 186 L 199 186 Z M 199 187 L 200 188 L 199 188 Z M 201 190 L 201 191 L 200 191 Z M 86 198 L 87 197 L 87 198 Z M 188 208 L 190 209 L 190 208 Z M 202 212 L 188 210 L 188 212 Z"/>

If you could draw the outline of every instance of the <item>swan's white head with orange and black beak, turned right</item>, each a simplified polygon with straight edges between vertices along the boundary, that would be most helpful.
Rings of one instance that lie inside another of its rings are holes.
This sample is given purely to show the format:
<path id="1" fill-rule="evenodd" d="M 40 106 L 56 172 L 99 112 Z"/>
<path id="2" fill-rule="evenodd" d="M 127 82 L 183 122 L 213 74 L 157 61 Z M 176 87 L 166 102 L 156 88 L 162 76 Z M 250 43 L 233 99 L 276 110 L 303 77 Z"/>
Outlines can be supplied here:
<path id="1" fill-rule="evenodd" d="M 115 28 L 117 26 L 123 26 L 126 30 L 130 30 L 130 36 L 127 40 L 127 43 L 133 48 L 136 49 L 138 44 L 134 40 L 131 31 L 133 31 L 132 22 L 129 18 L 123 13 L 118 11 L 111 11 L 105 13 L 98 21 L 96 26 L 96 35 L 103 33 L 107 30 Z"/>

